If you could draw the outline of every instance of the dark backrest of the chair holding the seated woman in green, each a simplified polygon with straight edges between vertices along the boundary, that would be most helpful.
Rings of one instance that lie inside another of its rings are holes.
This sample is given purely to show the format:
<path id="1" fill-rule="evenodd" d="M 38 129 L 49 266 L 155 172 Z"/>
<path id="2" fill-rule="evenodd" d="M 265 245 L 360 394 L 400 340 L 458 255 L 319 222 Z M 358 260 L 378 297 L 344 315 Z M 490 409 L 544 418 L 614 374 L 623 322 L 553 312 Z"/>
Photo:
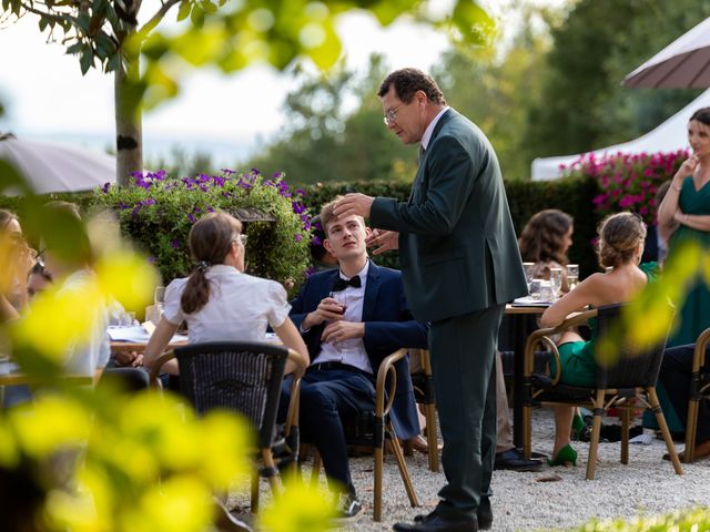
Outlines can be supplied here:
<path id="1" fill-rule="evenodd" d="M 621 325 L 619 316 L 629 305 L 635 304 L 605 305 L 597 309 L 597 347 L 610 334 L 621 332 L 620 337 L 626 337 L 625 331 L 619 327 Z M 672 308 L 670 303 L 668 306 Z M 643 327 L 643 324 L 635 326 Z M 597 388 L 623 389 L 656 386 L 668 339 L 668 329 L 655 345 L 643 348 L 629 341 L 617 340 L 610 364 L 598 364 Z M 597 355 L 599 356 L 599 352 Z"/>

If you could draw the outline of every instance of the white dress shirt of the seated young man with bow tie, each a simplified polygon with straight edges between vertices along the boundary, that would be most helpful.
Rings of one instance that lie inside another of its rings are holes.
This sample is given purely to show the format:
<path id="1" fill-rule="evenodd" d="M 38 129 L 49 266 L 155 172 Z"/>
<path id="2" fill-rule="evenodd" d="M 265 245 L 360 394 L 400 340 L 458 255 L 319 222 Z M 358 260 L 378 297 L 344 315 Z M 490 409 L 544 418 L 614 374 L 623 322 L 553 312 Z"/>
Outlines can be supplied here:
<path id="1" fill-rule="evenodd" d="M 345 321 L 363 321 L 367 272 L 369 272 L 369 259 L 365 263 L 365 267 L 357 273 L 361 280 L 359 288 L 348 286 L 344 290 L 333 293 L 333 298 L 347 307 L 345 309 L 345 315 L 343 316 Z M 342 279 L 348 280 L 348 277 L 345 277 L 343 272 L 339 272 L 339 275 Z M 354 366 L 363 371 L 367 371 L 371 375 L 375 374 L 372 365 L 369 364 L 365 342 L 362 338 L 351 338 L 348 340 L 337 342 L 321 344 L 321 352 L 314 360 L 314 364 L 318 362 L 347 364 L 348 366 Z"/>

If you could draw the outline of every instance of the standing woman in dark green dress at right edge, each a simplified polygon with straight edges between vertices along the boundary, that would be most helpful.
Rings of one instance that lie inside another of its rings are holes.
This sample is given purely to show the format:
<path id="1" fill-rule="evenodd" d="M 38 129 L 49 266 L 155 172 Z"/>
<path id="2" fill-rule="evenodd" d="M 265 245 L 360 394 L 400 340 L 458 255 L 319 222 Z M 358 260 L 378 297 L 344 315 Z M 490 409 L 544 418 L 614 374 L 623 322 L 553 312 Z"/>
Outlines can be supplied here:
<path id="1" fill-rule="evenodd" d="M 676 172 L 658 208 L 658 227 L 669 243 L 669 258 L 688 241 L 710 252 L 710 108 L 699 109 L 690 117 L 688 142 L 692 155 Z M 668 347 L 693 344 L 710 327 L 710 290 L 700 273 L 679 307 Z"/>

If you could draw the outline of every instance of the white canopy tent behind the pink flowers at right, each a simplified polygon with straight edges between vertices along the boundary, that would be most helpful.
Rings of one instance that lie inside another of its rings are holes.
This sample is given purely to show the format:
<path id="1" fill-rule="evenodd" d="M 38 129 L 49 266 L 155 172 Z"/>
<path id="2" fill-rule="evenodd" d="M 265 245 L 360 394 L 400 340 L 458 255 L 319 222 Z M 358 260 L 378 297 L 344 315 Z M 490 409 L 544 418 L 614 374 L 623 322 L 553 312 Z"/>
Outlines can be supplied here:
<path id="1" fill-rule="evenodd" d="M 595 150 L 595 156 L 613 155 L 616 153 L 655 153 L 676 152 L 688 147 L 688 120 L 700 108 L 710 106 L 710 90 L 707 90 L 682 110 L 668 119 L 661 125 L 649 133 L 639 136 L 635 141 L 616 144 L 613 146 Z M 562 166 L 569 167 L 576 161 L 586 155 L 562 155 L 559 157 L 536 158 L 532 161 L 532 181 L 555 180 L 562 173 Z"/>

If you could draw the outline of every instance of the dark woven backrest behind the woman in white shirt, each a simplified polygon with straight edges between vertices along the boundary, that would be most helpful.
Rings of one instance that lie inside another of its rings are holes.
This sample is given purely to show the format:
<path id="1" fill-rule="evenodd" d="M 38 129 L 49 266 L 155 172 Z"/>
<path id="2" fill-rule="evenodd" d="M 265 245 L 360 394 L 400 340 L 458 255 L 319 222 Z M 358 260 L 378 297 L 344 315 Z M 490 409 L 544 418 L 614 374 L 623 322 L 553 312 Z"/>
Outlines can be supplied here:
<path id="1" fill-rule="evenodd" d="M 288 349 L 261 342 L 204 342 L 175 349 L 180 387 L 197 413 L 241 413 L 258 431 L 260 448 L 274 436 Z"/>

